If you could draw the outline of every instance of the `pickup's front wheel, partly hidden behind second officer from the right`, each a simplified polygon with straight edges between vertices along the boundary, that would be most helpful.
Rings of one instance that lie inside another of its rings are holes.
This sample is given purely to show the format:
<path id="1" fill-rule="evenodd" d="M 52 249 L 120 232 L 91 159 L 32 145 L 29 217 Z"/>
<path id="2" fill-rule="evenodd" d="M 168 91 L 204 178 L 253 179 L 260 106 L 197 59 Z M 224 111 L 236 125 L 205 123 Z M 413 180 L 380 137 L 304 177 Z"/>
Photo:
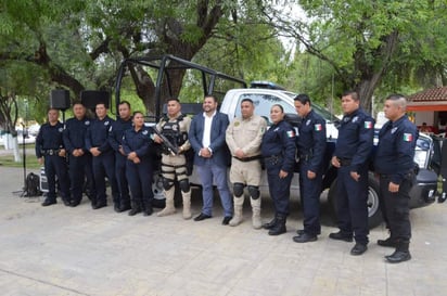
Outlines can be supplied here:
<path id="1" fill-rule="evenodd" d="M 372 173 L 368 177 L 368 224 L 370 229 L 373 229 L 382 223 L 383 218 L 380 211 L 379 183 Z M 331 203 L 336 221 L 336 179 L 329 189 L 328 200 Z"/>

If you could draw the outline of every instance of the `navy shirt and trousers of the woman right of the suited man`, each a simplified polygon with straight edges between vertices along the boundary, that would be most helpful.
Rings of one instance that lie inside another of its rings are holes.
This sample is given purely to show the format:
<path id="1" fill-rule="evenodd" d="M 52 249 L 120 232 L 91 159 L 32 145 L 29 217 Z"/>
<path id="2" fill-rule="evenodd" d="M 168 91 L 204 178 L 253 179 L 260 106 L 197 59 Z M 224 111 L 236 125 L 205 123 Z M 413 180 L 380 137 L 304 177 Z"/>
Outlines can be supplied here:
<path id="1" fill-rule="evenodd" d="M 284 120 L 272 125 L 263 136 L 260 151 L 267 169 L 270 196 L 274 211 L 289 215 L 290 188 L 295 166 L 295 131 Z M 280 178 L 280 170 L 288 177 Z"/>

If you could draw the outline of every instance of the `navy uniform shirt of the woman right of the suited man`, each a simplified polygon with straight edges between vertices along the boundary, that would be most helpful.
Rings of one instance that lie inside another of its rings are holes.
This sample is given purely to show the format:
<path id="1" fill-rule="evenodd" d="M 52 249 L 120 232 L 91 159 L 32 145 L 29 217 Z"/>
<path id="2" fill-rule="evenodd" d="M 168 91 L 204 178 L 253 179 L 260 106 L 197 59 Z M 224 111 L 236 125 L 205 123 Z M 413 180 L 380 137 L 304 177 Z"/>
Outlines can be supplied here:
<path id="1" fill-rule="evenodd" d="M 281 169 L 293 172 L 295 166 L 295 131 L 291 125 L 282 120 L 272 125 L 263 136 L 260 152 L 264 157 L 282 156 Z"/>

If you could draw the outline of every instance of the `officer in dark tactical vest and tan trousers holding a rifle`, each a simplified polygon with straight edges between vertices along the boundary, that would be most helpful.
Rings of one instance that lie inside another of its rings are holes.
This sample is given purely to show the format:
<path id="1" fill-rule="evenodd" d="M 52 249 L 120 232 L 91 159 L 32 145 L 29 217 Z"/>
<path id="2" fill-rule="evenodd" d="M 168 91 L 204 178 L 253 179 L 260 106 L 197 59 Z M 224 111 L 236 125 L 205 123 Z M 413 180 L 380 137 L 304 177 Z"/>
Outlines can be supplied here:
<path id="1" fill-rule="evenodd" d="M 183 219 L 191 219 L 191 188 L 187 172 L 187 158 L 184 153 L 191 149 L 188 140 L 188 132 L 191 126 L 191 118 L 181 114 L 180 101 L 171 98 L 167 101 L 167 115 L 159 120 L 156 129 L 178 149 L 178 154 L 169 151 L 163 145 L 163 139 L 154 136 L 154 141 L 162 144 L 162 177 L 163 188 L 166 197 L 165 208 L 157 214 L 158 217 L 173 215 L 176 213 L 174 205 L 175 185 L 177 178 L 183 200 Z"/>

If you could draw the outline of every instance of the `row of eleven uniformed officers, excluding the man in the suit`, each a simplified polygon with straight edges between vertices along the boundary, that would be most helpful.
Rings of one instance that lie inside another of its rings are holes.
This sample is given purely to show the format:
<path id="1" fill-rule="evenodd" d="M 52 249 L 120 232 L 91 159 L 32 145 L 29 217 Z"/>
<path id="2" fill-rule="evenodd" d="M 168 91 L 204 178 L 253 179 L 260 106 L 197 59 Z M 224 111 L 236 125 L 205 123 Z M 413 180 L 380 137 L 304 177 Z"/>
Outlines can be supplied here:
<path id="1" fill-rule="evenodd" d="M 284 119 L 283 107 L 272 105 L 267 129 L 265 118 L 254 113 L 254 102 L 241 101 L 241 117 L 234 118 L 226 131 L 226 142 L 232 155 L 230 181 L 233 185 L 234 216 L 227 223 L 232 227 L 243 221 L 244 188 L 252 205 L 253 228 L 268 229 L 269 235 L 286 232 L 285 221 L 290 207 L 290 186 L 295 163 L 299 165 L 299 195 L 304 228 L 293 237 L 296 243 L 315 242 L 321 233 L 319 196 L 324 173 L 325 120 L 314 112 L 307 94 L 294 99 L 295 110 L 302 118 L 297 128 Z M 336 211 L 340 231 L 330 239 L 353 242 L 352 255 L 367 250 L 368 241 L 368 168 L 373 147 L 374 119 L 360 107 L 355 91 L 342 96 L 344 117 L 331 164 L 337 168 Z M 179 183 L 183 200 L 183 218 L 191 218 L 191 189 L 188 180 L 186 153 L 191 149 L 188 132 L 191 119 L 182 115 L 178 99 L 167 102 L 167 114 L 155 127 L 157 134 L 144 126 L 143 115 L 130 113 L 130 104 L 119 104 L 119 118 L 113 120 L 105 104 L 95 107 L 95 118 L 86 116 L 80 103 L 73 106 L 74 118 L 65 126 L 58 120 L 56 110 L 48 112 L 48 123 L 42 125 L 36 140 L 36 155 L 44 169 L 49 192 L 42 206 L 56 203 L 55 176 L 62 201 L 66 206 L 79 205 L 87 180 L 87 192 L 93 209 L 106 206 L 105 177 L 108 179 L 118 213 L 130 209 L 152 214 L 152 169 L 154 143 L 163 145 L 162 176 L 165 208 L 157 216 L 176 211 L 174 205 L 175 181 Z M 385 116 L 389 121 L 380 131 L 380 142 L 373 160 L 380 179 L 381 209 L 389 229 L 389 237 L 379 240 L 381 246 L 395 247 L 386 256 L 388 262 L 411 258 L 409 241 L 409 190 L 413 180 L 413 155 L 418 132 L 406 116 L 406 99 L 389 95 L 385 101 Z M 174 150 L 174 149 L 175 150 Z M 69 169 L 66 156 L 68 156 Z M 274 217 L 268 223 L 260 219 L 261 166 L 267 170 Z M 129 186 L 131 197 L 129 196 Z M 201 214 L 203 215 L 203 214 Z M 226 217 L 227 218 L 227 217 Z M 227 224 L 225 223 L 225 224 Z"/>

